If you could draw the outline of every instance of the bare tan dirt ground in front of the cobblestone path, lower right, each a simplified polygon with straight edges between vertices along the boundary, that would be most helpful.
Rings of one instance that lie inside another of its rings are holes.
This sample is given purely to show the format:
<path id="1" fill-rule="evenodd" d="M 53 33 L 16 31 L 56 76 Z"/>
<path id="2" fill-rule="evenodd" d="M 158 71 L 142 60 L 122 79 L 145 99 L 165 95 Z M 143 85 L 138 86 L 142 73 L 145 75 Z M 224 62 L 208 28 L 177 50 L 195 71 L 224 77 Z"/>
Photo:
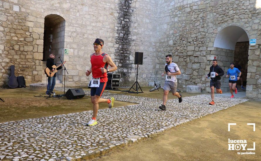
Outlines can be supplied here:
<path id="1" fill-rule="evenodd" d="M 250 100 L 94 160 L 261 160 L 260 116 L 260 101 Z M 228 123 L 237 125 L 228 131 Z M 255 131 L 247 123 L 255 123 Z M 255 142 L 255 150 L 228 150 L 228 138 L 246 140 L 246 148 L 253 148 Z M 246 151 L 255 155 L 237 154 Z"/>

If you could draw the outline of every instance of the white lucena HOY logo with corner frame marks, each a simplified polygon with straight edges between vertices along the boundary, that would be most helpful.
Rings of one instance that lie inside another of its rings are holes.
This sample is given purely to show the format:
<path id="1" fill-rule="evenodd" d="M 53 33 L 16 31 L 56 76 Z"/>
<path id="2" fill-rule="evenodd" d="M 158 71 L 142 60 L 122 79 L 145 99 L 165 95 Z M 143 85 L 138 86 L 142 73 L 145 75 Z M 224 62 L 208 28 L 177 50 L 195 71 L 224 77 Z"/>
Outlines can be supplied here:
<path id="1" fill-rule="evenodd" d="M 236 123 L 228 123 L 228 131 L 230 131 L 231 125 L 237 125 Z M 255 131 L 255 123 L 247 123 L 247 125 L 253 125 L 253 131 Z M 246 140 L 230 140 L 228 139 L 228 143 L 247 143 Z M 228 150 L 245 150 L 247 144 L 228 144 Z M 255 150 L 255 142 L 253 142 L 253 148 L 247 148 L 247 150 Z"/>

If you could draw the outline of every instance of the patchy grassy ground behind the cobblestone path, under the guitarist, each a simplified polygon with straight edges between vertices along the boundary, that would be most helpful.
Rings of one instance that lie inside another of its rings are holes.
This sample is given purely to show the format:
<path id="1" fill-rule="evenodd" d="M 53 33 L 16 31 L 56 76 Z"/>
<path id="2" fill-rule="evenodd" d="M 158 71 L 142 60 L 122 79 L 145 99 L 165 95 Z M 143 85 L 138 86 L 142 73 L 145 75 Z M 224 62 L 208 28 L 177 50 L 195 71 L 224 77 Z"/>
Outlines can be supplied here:
<path id="1" fill-rule="evenodd" d="M 107 92 L 115 94 L 127 94 L 140 97 L 150 97 L 162 99 L 163 90 L 155 90 L 149 92 L 151 87 L 142 87 L 144 93 L 126 93 L 122 92 L 128 90 L 126 88 L 118 88 L 118 90 L 105 90 L 103 95 L 108 95 Z M 84 88 L 84 90 L 90 90 Z M 140 91 L 140 90 L 139 90 Z M 56 91 L 56 95 L 64 92 Z M 195 94 L 182 93 L 183 97 Z M 113 95 L 112 95 L 113 96 Z M 89 95 L 75 100 L 67 100 L 66 97 L 48 98 L 45 91 L 33 91 L 30 88 L 15 88 L 15 89 L 0 89 L 0 98 L 5 102 L 0 102 L 0 122 L 17 121 L 23 119 L 47 117 L 58 114 L 69 114 L 74 112 L 83 112 L 92 110 L 92 103 Z M 169 98 L 175 98 L 169 94 Z M 133 105 L 130 102 L 115 101 L 114 107 L 122 107 Z M 99 109 L 108 108 L 107 103 L 100 103 Z"/>

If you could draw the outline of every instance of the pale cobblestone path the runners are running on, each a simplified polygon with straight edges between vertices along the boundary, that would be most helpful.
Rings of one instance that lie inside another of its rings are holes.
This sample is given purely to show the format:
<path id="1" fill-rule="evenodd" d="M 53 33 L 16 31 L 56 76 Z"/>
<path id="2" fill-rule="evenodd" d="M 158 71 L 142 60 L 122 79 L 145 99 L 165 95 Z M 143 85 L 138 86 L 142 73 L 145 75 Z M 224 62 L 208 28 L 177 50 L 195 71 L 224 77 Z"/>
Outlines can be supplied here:
<path id="1" fill-rule="evenodd" d="M 208 105 L 210 94 L 197 95 L 184 97 L 182 103 L 178 103 L 177 98 L 170 99 L 167 110 L 161 111 L 158 109 L 162 103 L 160 99 L 123 94 L 114 97 L 137 104 L 99 110 L 95 126 L 85 126 L 92 111 L 1 123 L 0 159 L 83 158 L 247 101 L 216 96 L 216 104 Z"/>

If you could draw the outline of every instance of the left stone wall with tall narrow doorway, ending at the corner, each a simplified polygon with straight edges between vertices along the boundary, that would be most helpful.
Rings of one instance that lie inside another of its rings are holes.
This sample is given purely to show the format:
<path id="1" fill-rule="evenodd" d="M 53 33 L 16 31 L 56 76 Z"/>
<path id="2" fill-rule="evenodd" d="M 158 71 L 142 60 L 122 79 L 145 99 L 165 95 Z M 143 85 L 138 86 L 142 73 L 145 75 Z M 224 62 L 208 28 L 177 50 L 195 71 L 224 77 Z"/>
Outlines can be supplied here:
<path id="1" fill-rule="evenodd" d="M 147 85 L 151 78 L 150 72 L 145 75 L 141 73 L 147 71 L 146 66 L 151 66 L 151 70 L 155 68 L 152 66 L 153 61 L 150 60 L 155 59 L 156 55 L 157 26 L 151 25 L 156 21 L 154 1 L 143 3 L 143 1 L 111 0 L 100 3 L 81 0 L 70 2 L 6 0 L 1 2 L 0 7 L 3 11 L 0 25 L 2 35 L 0 50 L 3 53 L 0 59 L 3 77 L 0 78 L 0 82 L 3 86 L 8 83 L 9 68 L 13 64 L 17 68 L 16 76 L 25 76 L 27 85 L 41 81 L 43 73 L 41 60 L 43 57 L 46 60 L 49 55 L 50 33 L 54 37 L 52 52 L 55 52 L 55 61 L 60 62 L 58 56 L 67 61 L 65 66 L 69 73 L 68 86 L 86 86 L 89 83 L 91 77 L 86 77 L 85 71 L 91 66 L 90 54 L 94 52 L 92 43 L 97 37 L 104 40 L 103 51 L 108 53 L 118 66 L 115 73 L 123 76 L 121 86 L 128 86 L 135 78 L 134 53 L 137 51 L 144 52 L 143 65 L 139 68 L 140 84 Z M 101 8 L 105 12 L 97 13 Z M 57 29 L 57 32 L 46 32 L 44 40 L 45 18 L 52 17 L 50 15 L 60 16 L 65 22 L 61 27 L 51 26 Z M 60 33 L 64 36 L 56 36 Z M 23 41 L 23 44 L 19 41 Z M 46 45 L 43 56 L 44 41 Z M 16 50 L 12 50 L 13 46 Z M 68 55 L 63 55 L 64 49 L 69 49 Z M 26 56 L 19 56 L 20 53 Z M 12 55 L 16 55 L 17 61 L 10 62 Z M 20 61 L 27 66 L 21 65 Z M 58 75 L 62 78 L 63 73 L 60 71 Z"/>

